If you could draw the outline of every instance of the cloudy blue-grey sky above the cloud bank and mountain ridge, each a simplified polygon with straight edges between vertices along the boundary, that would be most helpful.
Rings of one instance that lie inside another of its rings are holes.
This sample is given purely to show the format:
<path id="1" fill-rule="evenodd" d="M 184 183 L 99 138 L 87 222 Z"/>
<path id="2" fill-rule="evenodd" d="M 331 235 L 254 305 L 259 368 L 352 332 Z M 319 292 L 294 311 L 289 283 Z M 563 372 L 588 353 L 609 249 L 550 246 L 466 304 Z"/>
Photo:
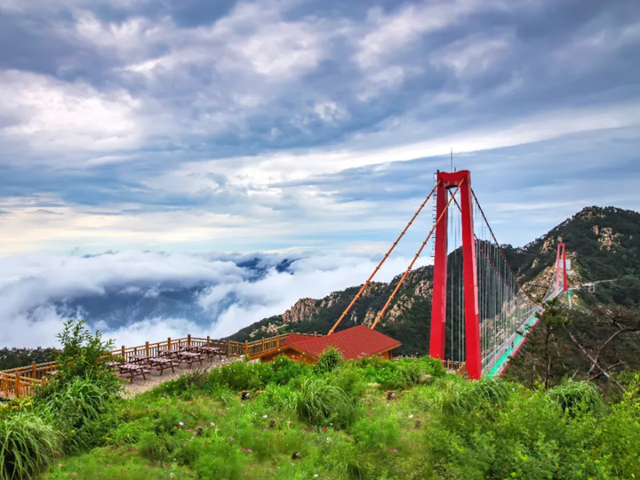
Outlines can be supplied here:
<path id="1" fill-rule="evenodd" d="M 637 52 L 636 0 L 0 0 L 0 298 L 106 251 L 369 261 L 451 148 L 501 243 L 640 210 Z"/>

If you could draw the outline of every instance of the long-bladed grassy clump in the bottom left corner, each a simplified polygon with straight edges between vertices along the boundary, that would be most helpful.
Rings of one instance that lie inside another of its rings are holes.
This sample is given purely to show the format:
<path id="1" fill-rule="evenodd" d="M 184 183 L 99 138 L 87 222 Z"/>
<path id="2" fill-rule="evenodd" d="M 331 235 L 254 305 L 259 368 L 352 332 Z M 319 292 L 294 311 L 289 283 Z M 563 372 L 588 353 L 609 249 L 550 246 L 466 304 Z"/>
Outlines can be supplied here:
<path id="1" fill-rule="evenodd" d="M 0 478 L 36 476 L 60 453 L 52 423 L 34 412 L 16 412 L 0 421 Z"/>

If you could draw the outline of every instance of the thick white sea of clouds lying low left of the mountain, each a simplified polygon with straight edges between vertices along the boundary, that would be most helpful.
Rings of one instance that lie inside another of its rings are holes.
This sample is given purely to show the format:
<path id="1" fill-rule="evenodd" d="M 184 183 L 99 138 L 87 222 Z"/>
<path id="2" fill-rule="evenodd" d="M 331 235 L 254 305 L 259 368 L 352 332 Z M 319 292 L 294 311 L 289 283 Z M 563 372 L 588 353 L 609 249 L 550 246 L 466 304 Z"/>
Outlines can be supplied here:
<path id="1" fill-rule="evenodd" d="M 55 346 L 67 318 L 84 318 L 118 346 L 225 337 L 300 298 L 362 284 L 377 260 L 140 251 L 0 259 L 0 346 Z M 409 261 L 388 260 L 375 280 L 389 281 Z"/>

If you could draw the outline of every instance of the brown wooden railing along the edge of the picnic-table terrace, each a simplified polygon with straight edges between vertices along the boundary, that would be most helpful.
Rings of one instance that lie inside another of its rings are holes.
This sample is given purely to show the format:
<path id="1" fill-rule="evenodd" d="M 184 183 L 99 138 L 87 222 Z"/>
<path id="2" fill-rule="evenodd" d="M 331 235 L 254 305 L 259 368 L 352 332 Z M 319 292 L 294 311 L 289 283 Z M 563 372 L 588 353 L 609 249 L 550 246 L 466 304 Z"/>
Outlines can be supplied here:
<path id="1" fill-rule="evenodd" d="M 314 335 L 316 335 L 314 333 Z M 171 339 L 156 342 L 145 342 L 144 345 L 137 347 L 125 347 L 111 350 L 108 358 L 127 359 L 132 355 L 160 356 L 161 348 L 169 348 L 170 350 L 179 351 L 182 347 L 188 346 L 208 346 L 220 348 L 226 356 L 247 356 L 253 358 L 263 352 L 278 348 L 282 345 L 284 339 L 289 333 L 277 334 L 275 337 L 268 339 L 262 338 L 254 341 L 232 341 L 232 340 L 215 340 L 211 337 L 201 338 L 187 337 L 181 339 Z M 312 336 L 312 335 L 309 335 Z M 55 362 L 47 362 L 45 364 L 30 364 L 27 366 L 12 368 L 0 372 L 0 398 L 14 398 L 20 396 L 30 396 L 34 393 L 35 388 L 46 381 L 56 371 Z"/>

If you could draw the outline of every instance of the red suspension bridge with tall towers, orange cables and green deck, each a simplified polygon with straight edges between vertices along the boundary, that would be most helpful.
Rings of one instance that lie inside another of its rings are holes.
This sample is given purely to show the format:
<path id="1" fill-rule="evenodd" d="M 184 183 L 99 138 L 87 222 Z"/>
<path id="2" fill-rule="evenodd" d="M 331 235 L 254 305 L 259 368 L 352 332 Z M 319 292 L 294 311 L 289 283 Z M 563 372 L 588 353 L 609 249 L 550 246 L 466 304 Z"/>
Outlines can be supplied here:
<path id="1" fill-rule="evenodd" d="M 542 310 L 542 304 L 524 290 L 511 268 L 471 188 L 471 174 L 466 170 L 437 173 L 435 187 L 329 334 L 348 316 L 434 196 L 433 227 L 376 316 L 372 328 L 385 316 L 413 265 L 431 241 L 434 277 L 429 355 L 454 364 L 465 364 L 471 379 L 498 376 L 507 367 L 509 357 L 516 355 L 523 346 L 527 333 L 538 321 L 536 314 Z M 558 244 L 554 273 L 542 301 L 564 292 L 568 292 L 566 252 L 564 244 Z"/>

